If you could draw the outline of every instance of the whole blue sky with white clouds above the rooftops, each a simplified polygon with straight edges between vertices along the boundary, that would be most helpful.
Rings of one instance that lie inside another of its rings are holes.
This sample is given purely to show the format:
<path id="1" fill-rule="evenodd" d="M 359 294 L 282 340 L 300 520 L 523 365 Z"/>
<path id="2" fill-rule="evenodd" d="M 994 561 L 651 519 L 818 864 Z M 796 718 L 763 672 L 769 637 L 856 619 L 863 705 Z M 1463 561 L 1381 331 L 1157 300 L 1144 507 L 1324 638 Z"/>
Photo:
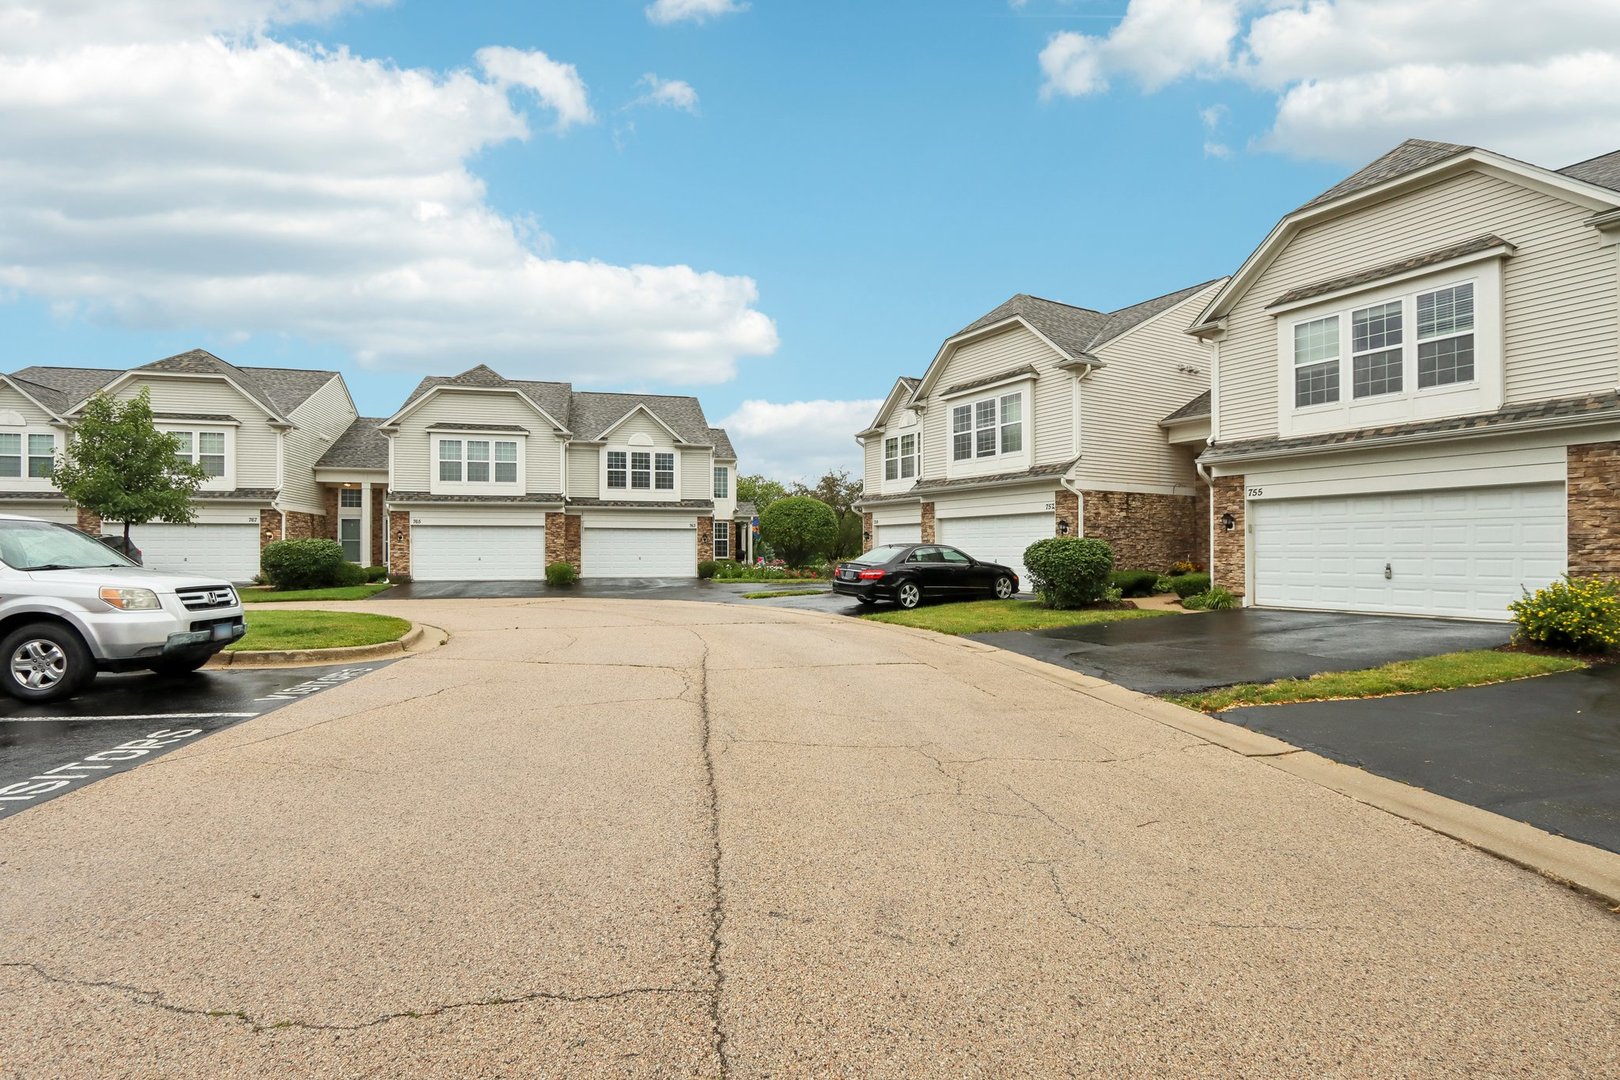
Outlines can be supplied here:
<path id="1" fill-rule="evenodd" d="M 0 0 L 0 340 L 692 392 L 745 471 L 854 468 L 1013 293 L 1218 277 L 1406 136 L 1620 146 L 1615 6 Z"/>

